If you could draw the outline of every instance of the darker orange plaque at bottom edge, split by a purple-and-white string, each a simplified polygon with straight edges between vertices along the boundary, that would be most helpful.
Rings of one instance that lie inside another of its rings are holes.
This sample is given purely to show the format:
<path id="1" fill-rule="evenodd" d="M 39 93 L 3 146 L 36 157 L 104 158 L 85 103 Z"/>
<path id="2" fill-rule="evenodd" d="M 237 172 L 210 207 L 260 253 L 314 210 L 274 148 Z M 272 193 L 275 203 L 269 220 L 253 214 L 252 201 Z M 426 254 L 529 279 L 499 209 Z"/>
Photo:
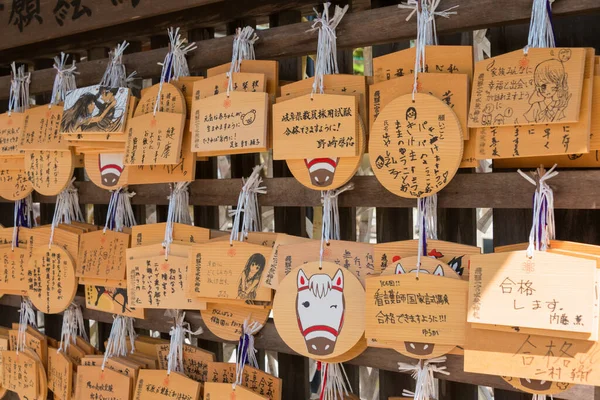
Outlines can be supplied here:
<path id="1" fill-rule="evenodd" d="M 234 363 L 210 362 L 207 382 L 233 384 L 235 368 Z M 242 371 L 242 386 L 268 399 L 281 400 L 282 380 L 249 365 Z"/>

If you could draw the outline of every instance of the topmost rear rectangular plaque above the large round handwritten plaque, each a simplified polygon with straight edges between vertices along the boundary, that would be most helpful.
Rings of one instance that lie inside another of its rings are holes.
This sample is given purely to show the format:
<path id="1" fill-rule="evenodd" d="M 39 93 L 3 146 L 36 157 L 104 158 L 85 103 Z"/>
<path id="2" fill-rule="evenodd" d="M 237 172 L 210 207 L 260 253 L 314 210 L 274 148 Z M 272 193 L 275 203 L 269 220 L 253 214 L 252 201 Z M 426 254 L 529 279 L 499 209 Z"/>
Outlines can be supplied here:
<path id="1" fill-rule="evenodd" d="M 415 48 L 400 50 L 373 58 L 373 83 L 405 75 L 412 75 L 415 68 Z M 471 46 L 425 46 L 426 72 L 459 73 L 473 77 L 473 47 Z"/>

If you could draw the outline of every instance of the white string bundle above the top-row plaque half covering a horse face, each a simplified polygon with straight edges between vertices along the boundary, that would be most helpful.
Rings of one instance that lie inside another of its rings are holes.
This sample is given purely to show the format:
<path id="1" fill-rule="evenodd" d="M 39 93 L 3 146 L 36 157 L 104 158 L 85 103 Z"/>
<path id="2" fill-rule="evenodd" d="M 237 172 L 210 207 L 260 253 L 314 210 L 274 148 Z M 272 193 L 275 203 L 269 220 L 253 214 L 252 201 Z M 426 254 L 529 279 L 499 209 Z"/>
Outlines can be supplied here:
<path id="1" fill-rule="evenodd" d="M 337 37 L 335 29 L 348 11 L 349 5 L 344 8 L 335 6 L 333 17 L 329 18 L 329 6 L 331 3 L 323 4 L 323 13 L 319 13 L 316 8 L 313 10 L 317 14 L 314 19 L 311 29 L 307 32 L 319 31 L 319 39 L 317 42 L 317 60 L 315 62 L 315 80 L 311 96 L 315 93 L 323 94 L 324 90 L 324 75 L 339 73 L 337 63 Z"/>

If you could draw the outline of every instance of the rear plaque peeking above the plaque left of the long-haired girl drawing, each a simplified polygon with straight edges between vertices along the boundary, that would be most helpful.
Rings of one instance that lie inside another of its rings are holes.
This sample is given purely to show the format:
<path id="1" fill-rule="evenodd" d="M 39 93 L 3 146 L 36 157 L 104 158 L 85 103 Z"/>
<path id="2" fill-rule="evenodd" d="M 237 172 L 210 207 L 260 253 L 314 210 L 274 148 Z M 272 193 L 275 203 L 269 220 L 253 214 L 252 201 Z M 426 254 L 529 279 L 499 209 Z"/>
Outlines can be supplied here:
<path id="1" fill-rule="evenodd" d="M 131 247 L 162 244 L 165 240 L 166 222 L 135 225 L 131 228 Z M 204 243 L 210 239 L 210 229 L 186 224 L 173 224 L 173 240 L 187 243 Z"/>

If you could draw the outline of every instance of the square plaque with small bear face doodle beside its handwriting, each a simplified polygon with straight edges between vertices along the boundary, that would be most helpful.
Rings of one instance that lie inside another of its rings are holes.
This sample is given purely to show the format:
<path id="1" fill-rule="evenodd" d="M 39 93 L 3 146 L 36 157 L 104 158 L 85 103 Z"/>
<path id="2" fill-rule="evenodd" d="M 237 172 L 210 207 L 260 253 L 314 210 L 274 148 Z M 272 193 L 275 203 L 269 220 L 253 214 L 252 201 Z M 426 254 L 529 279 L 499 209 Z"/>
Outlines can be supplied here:
<path id="1" fill-rule="evenodd" d="M 257 153 L 267 149 L 266 93 L 231 92 L 194 100 L 192 151 L 202 156 Z"/>

